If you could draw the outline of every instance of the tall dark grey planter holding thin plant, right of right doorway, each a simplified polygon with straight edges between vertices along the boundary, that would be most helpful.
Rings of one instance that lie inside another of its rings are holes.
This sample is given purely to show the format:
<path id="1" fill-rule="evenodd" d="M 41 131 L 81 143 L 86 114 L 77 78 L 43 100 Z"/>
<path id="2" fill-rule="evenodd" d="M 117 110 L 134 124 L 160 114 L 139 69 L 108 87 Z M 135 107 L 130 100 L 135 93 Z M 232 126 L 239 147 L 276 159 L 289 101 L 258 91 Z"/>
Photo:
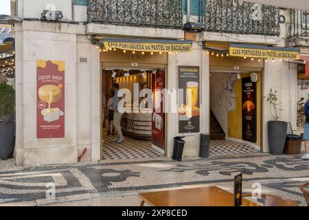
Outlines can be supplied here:
<path id="1" fill-rule="evenodd" d="M 268 146 L 272 155 L 281 155 L 286 143 L 287 122 L 269 121 L 268 122 Z"/>

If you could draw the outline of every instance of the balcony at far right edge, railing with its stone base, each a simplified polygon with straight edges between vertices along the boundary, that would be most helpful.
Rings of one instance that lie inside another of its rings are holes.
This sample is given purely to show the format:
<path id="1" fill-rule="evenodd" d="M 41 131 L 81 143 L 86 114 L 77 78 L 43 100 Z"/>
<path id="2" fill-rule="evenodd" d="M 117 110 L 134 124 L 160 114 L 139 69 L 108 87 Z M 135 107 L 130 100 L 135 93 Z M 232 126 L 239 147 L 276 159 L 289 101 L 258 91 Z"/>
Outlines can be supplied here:
<path id="1" fill-rule="evenodd" d="M 288 43 L 290 46 L 309 46 L 309 12 L 290 10 L 290 30 Z"/>

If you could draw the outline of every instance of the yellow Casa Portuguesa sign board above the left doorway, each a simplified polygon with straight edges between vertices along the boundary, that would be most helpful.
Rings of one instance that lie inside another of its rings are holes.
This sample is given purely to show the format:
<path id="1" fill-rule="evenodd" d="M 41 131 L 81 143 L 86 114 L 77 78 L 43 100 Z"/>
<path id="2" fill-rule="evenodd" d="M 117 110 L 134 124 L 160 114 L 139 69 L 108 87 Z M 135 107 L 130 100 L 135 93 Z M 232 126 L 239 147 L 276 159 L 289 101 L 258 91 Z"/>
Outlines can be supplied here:
<path id="1" fill-rule="evenodd" d="M 136 42 L 104 42 L 106 50 L 116 48 L 119 50 L 133 50 L 140 52 L 192 52 L 190 43 L 136 43 Z"/>

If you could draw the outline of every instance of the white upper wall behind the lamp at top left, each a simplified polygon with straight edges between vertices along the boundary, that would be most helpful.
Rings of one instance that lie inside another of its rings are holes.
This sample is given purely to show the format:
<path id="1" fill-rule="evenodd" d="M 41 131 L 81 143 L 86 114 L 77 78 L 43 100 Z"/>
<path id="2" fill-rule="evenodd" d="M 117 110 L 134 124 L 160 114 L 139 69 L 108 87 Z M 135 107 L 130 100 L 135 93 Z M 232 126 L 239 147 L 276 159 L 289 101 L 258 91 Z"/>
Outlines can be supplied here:
<path id="1" fill-rule="evenodd" d="M 63 19 L 72 20 L 71 0 L 17 0 L 18 17 L 39 19 L 43 10 L 61 11 Z"/>

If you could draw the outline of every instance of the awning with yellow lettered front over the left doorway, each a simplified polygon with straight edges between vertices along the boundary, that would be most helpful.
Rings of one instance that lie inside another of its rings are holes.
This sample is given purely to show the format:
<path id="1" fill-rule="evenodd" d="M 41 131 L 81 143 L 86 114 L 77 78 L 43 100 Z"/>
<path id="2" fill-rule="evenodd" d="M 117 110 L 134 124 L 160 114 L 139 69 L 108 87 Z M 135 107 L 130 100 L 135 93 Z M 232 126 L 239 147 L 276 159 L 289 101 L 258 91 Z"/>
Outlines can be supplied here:
<path id="1" fill-rule="evenodd" d="M 192 52 L 192 41 L 159 39 L 101 39 L 105 50 L 111 48 L 137 52 Z"/>

